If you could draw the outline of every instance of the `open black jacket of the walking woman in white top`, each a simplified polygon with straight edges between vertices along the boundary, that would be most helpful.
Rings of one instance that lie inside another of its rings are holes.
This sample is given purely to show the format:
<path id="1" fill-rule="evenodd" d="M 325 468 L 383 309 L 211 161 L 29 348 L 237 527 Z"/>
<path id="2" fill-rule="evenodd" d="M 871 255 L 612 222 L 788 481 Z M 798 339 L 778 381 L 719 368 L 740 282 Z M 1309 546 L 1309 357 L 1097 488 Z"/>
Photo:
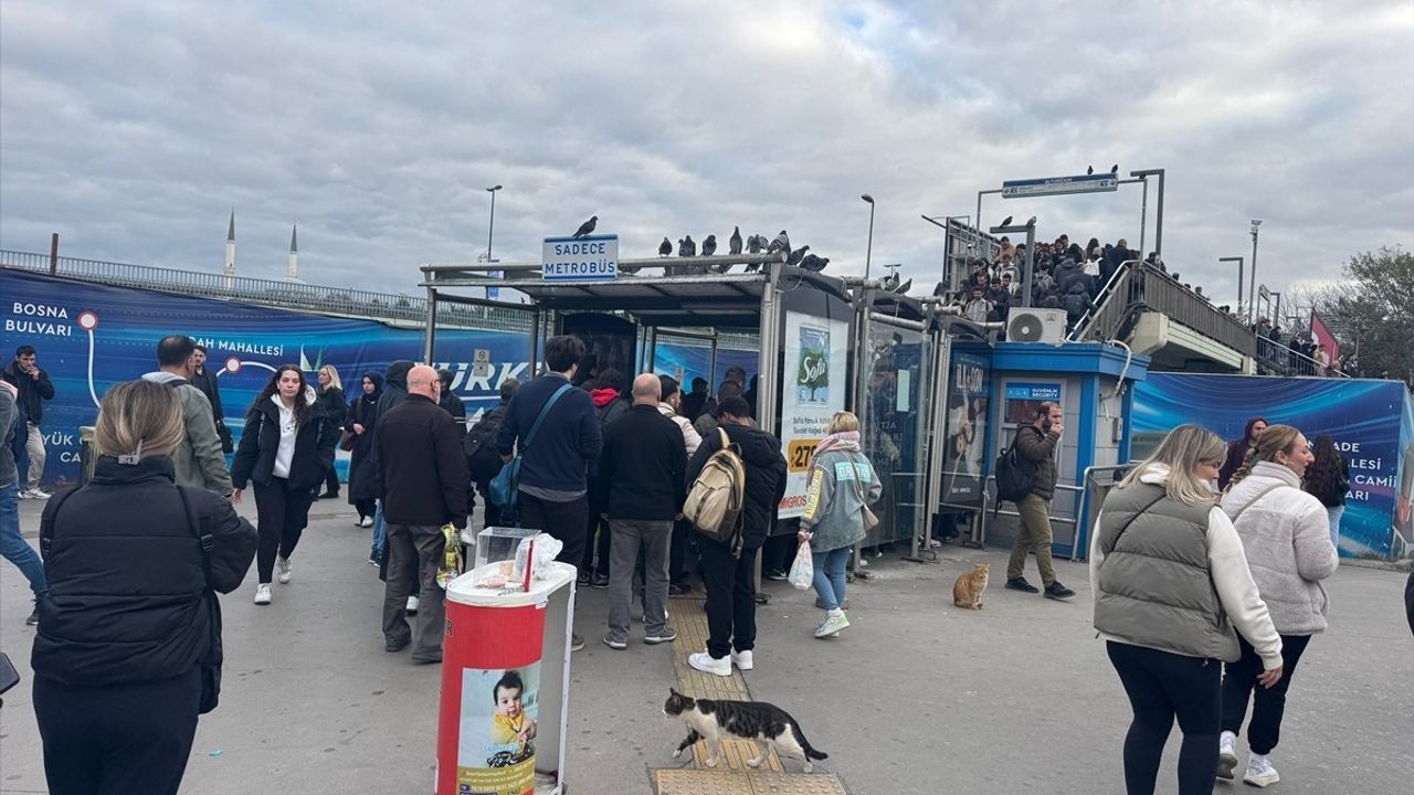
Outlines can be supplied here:
<path id="1" fill-rule="evenodd" d="M 324 484 L 334 464 L 334 444 L 339 430 L 324 414 L 324 407 L 314 398 L 314 389 L 305 388 L 304 399 L 308 414 L 294 437 L 294 455 L 290 458 L 290 488 L 318 488 Z M 280 407 L 274 400 L 257 400 L 246 414 L 246 427 L 240 431 L 240 446 L 230 463 L 230 482 L 246 488 L 249 481 L 270 485 L 274 478 L 274 457 L 280 450 Z"/>

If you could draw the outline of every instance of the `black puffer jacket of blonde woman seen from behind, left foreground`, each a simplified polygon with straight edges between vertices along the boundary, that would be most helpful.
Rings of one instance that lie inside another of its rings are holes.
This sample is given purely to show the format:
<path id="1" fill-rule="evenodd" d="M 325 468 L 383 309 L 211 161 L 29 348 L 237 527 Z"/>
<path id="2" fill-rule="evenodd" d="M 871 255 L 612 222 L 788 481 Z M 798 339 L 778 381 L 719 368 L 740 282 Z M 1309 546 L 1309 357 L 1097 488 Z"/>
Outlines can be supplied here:
<path id="1" fill-rule="evenodd" d="M 100 457 L 88 485 L 45 505 L 49 593 L 40 600 L 35 675 L 83 687 L 136 685 L 219 662 L 211 642 L 219 614 L 206 588 L 240 586 L 256 530 L 216 494 L 185 492 L 214 540 L 209 583 L 165 455 L 136 465 Z"/>

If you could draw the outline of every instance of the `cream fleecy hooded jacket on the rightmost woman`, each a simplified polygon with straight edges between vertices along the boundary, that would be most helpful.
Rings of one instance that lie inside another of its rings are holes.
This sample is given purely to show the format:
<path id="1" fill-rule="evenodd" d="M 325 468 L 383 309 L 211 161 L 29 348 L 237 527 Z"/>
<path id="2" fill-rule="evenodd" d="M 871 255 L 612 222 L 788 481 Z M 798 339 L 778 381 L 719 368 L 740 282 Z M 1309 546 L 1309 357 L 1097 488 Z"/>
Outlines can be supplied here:
<path id="1" fill-rule="evenodd" d="M 1275 488 L 1267 491 L 1271 487 Z M 1241 536 L 1251 579 L 1277 631 L 1324 632 L 1329 600 L 1321 580 L 1335 573 L 1340 559 L 1331 543 L 1331 521 L 1321 501 L 1301 491 L 1301 478 L 1287 467 L 1258 461 L 1250 475 L 1223 495 L 1222 506 L 1229 516 L 1237 516 L 1233 525 Z"/>

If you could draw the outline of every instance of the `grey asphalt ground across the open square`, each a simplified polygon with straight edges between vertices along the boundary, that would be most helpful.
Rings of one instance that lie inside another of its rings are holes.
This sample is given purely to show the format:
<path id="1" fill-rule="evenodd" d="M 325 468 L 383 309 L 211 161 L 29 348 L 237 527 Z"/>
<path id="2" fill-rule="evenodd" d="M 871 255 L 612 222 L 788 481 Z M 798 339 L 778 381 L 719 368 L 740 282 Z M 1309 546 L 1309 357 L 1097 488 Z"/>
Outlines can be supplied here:
<path id="1" fill-rule="evenodd" d="M 243 512 L 253 518 L 253 505 Z M 21 502 L 38 532 L 41 504 Z M 136 506 L 134 506 L 136 508 Z M 320 501 L 294 556 L 296 577 L 256 607 L 255 567 L 223 597 L 221 707 L 201 719 L 182 792 L 426 794 L 433 787 L 438 668 L 386 654 L 382 584 L 366 563 L 369 530 L 344 501 Z M 758 611 L 752 697 L 796 716 L 830 754 L 817 771 L 854 795 L 1123 792 L 1120 748 L 1128 703 L 1090 627 L 1083 563 L 1058 562 L 1076 588 L 1056 603 L 1000 587 L 1005 549 L 945 546 L 937 563 L 872 559 L 850 587 L 851 627 L 817 641 L 813 591 L 766 583 Z M 990 562 L 984 610 L 952 605 L 954 577 Z M 1035 580 L 1034 566 L 1029 569 Z M 1329 580 L 1331 629 L 1302 658 L 1288 696 L 1274 792 L 1414 792 L 1414 639 L 1403 615 L 1404 574 L 1342 566 Z M 697 608 L 673 600 L 669 610 Z M 34 629 L 28 588 L 0 564 L 0 649 L 24 682 L 0 709 L 0 792 L 45 792 L 30 699 Z M 574 655 L 568 792 L 649 794 L 686 734 L 662 714 L 677 679 L 673 649 L 600 642 L 607 593 L 585 588 Z M 1244 753 L 1244 748 L 1241 750 Z M 1178 736 L 1159 792 L 1175 791 Z M 799 772 L 797 762 L 783 760 Z M 1217 792 L 1251 791 L 1220 782 Z"/>

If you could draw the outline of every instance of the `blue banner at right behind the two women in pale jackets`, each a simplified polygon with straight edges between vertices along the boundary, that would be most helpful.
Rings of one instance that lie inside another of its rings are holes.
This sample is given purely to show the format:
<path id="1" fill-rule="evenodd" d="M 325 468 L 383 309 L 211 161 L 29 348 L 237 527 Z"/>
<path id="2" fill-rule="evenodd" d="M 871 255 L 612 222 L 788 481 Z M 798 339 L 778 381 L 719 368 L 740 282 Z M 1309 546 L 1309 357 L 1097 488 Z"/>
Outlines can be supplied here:
<path id="1" fill-rule="evenodd" d="M 1398 382 L 1150 373 L 1135 385 L 1133 458 L 1145 457 L 1184 423 L 1239 439 L 1247 420 L 1258 416 L 1301 429 L 1309 440 L 1331 436 L 1345 455 L 1350 492 L 1340 519 L 1342 556 L 1387 559 L 1407 546 L 1396 508 L 1398 497 L 1406 504 L 1408 497 L 1396 492 L 1401 458 L 1411 457 L 1414 419 L 1408 390 Z"/>

